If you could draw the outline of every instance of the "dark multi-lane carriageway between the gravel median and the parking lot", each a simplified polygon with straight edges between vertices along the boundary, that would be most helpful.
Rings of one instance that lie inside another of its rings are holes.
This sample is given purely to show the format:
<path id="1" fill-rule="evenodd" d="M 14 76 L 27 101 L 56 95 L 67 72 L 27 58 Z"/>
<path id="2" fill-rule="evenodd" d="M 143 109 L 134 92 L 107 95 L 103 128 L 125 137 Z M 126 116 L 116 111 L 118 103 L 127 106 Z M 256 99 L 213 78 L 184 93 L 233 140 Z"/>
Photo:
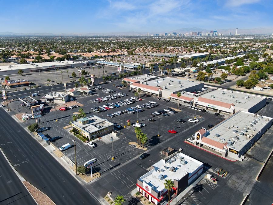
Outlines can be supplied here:
<path id="1" fill-rule="evenodd" d="M 0 146 L 22 177 L 56 204 L 100 204 L 6 111 L 0 113 Z"/>

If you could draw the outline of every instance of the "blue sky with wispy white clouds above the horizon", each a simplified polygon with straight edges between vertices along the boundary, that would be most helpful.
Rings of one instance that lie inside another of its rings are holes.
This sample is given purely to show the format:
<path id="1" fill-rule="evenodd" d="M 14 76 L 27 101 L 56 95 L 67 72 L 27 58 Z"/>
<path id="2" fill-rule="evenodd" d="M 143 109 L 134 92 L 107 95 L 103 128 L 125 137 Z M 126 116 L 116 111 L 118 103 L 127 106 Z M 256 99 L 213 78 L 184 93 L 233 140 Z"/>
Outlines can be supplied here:
<path id="1" fill-rule="evenodd" d="M 272 0 L 0 0 L 0 32 L 171 32 L 273 26 Z"/>

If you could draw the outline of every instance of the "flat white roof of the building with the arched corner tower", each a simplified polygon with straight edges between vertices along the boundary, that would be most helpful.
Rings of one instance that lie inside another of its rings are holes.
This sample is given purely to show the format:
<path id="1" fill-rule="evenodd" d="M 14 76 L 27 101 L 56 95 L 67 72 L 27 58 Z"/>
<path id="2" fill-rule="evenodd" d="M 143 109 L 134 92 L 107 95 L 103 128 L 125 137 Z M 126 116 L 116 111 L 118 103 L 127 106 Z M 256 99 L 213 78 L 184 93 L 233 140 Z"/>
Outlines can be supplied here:
<path id="1" fill-rule="evenodd" d="M 227 144 L 227 147 L 240 150 L 252 139 L 251 135 L 255 136 L 271 119 L 266 116 L 255 116 L 253 113 L 239 111 L 231 115 L 226 121 L 211 128 L 207 132 L 209 135 L 206 134 L 206 138 L 223 144 L 228 143 L 230 145 Z"/>

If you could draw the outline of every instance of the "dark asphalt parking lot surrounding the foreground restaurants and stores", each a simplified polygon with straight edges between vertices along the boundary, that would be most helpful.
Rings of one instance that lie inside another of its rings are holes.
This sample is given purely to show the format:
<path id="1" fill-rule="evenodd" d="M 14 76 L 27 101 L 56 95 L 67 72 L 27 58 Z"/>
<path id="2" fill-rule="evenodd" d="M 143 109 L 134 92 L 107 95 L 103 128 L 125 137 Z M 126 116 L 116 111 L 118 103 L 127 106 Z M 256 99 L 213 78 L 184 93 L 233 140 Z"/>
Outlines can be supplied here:
<path id="1" fill-rule="evenodd" d="M 113 84 L 120 84 L 120 82 L 105 84 L 104 87 L 106 89 L 109 88 L 115 90 L 116 92 L 114 93 L 122 92 L 128 94 L 128 96 L 117 98 L 115 100 L 112 100 L 112 102 L 134 96 L 134 93 L 128 92 L 128 89 L 118 89 L 114 87 Z M 249 175 L 254 176 L 258 172 L 258 169 L 260 169 L 261 167 L 261 163 L 266 158 L 267 152 L 272 146 L 271 142 L 267 142 L 268 138 L 270 138 L 270 134 L 265 135 L 254 146 L 254 148 L 251 150 L 251 153 L 248 153 L 246 159 L 243 162 L 229 162 L 225 159 L 212 155 L 211 153 L 208 153 L 204 150 L 195 148 L 194 146 L 191 146 L 184 142 L 185 139 L 189 138 L 201 127 L 207 127 L 208 124 L 216 125 L 224 119 L 224 116 L 215 116 L 214 112 L 202 113 L 189 109 L 187 108 L 187 106 L 182 105 L 180 106 L 180 111 L 178 113 L 170 114 L 170 116 L 168 117 L 152 117 L 156 121 L 150 122 L 147 121 L 147 119 L 151 117 L 151 112 L 162 110 L 164 108 L 177 108 L 176 103 L 165 102 L 163 100 L 158 101 L 154 97 L 142 97 L 142 101 L 138 101 L 131 105 L 122 106 L 120 108 L 115 108 L 113 110 L 108 110 L 101 113 L 93 113 L 91 108 L 98 106 L 98 104 L 93 103 L 91 100 L 97 98 L 98 95 L 99 97 L 103 97 L 109 94 L 105 94 L 101 92 L 101 90 L 99 90 L 96 91 L 93 95 L 83 95 L 77 97 L 77 101 L 81 104 L 84 104 L 83 109 L 85 112 L 88 113 L 87 116 L 96 114 L 100 117 L 107 118 L 106 115 L 109 113 L 125 110 L 129 107 L 135 107 L 138 104 L 147 103 L 152 100 L 159 103 L 158 107 L 145 110 L 138 115 L 123 114 L 114 118 L 108 118 L 109 121 L 118 123 L 121 126 L 124 125 L 124 116 L 125 120 L 130 119 L 132 124 L 138 119 L 140 123 L 144 123 L 147 125 L 146 127 L 142 128 L 142 131 L 147 134 L 148 137 L 148 141 L 145 147 L 147 147 L 148 149 L 146 152 L 149 154 L 149 156 L 143 160 L 140 160 L 139 156 L 144 151 L 136 149 L 135 147 L 131 147 L 128 144 L 132 141 L 136 142 L 135 133 L 133 132 L 133 126 L 120 128 L 120 132 L 122 132 L 122 135 L 120 135 L 118 139 L 114 139 L 113 141 L 113 154 L 115 156 L 114 160 L 111 159 L 112 141 L 110 140 L 110 137 L 102 137 L 101 139 L 96 140 L 94 142 L 94 144 L 96 145 L 95 148 L 91 148 L 85 145 L 79 139 L 76 140 L 76 154 L 78 165 L 81 165 L 84 162 L 93 158 L 98 159 L 98 162 L 94 166 L 94 170 L 100 172 L 101 177 L 87 184 L 86 188 L 101 196 L 105 196 L 108 191 L 111 191 L 113 196 L 120 194 L 125 196 L 126 199 L 129 199 L 131 197 L 131 192 L 136 188 L 135 184 L 137 179 L 143 174 L 147 173 L 153 163 L 159 161 L 160 159 L 163 159 L 163 156 L 160 155 L 160 152 L 162 149 L 169 146 L 176 150 L 179 150 L 181 148 L 184 154 L 194 157 L 201 162 L 204 162 L 204 166 L 208 169 L 208 171 L 222 168 L 228 169 L 228 172 L 230 174 L 230 177 L 228 179 L 219 178 L 218 186 L 215 189 L 211 189 L 209 185 L 201 181 L 200 183 L 202 186 L 199 184 L 199 189 L 198 187 L 196 187 L 192 193 L 189 193 L 187 196 L 185 196 L 185 201 L 180 202 L 181 204 L 197 204 L 198 201 L 204 204 L 220 203 L 221 200 L 219 200 L 219 197 L 212 197 L 216 195 L 221 195 L 224 200 L 230 200 L 233 203 L 238 204 L 238 202 L 244 197 L 243 193 L 248 187 L 249 183 L 252 183 Z M 99 105 L 103 104 L 105 103 L 99 103 Z M 17 102 L 14 102 L 12 106 L 16 108 Z M 21 110 L 24 109 L 26 111 L 29 111 L 26 108 L 21 108 Z M 12 112 L 15 111 L 16 109 Z M 66 143 L 70 143 L 72 145 L 70 149 L 64 151 L 64 154 L 72 161 L 75 161 L 75 153 L 73 147 L 74 136 L 72 136 L 67 130 L 64 130 L 63 127 L 69 125 L 69 122 L 72 121 L 73 112 L 77 111 L 78 108 L 67 111 L 56 111 L 56 115 L 58 118 L 57 122 L 55 121 L 55 112 L 45 112 L 45 114 L 40 118 L 40 126 L 50 128 L 48 131 L 44 132 L 44 134 L 48 135 L 49 137 L 61 137 L 61 139 L 53 142 L 53 144 L 57 148 Z M 200 122 L 187 122 L 187 119 L 194 118 L 194 116 L 197 116 L 197 118 L 200 119 Z M 179 123 L 177 122 L 177 119 L 184 119 L 186 122 Z M 28 123 L 34 123 L 34 120 L 29 120 Z M 26 125 L 26 122 L 23 122 L 22 124 Z M 167 131 L 169 129 L 174 129 L 178 133 L 168 133 Z M 158 130 L 160 137 L 157 136 Z M 270 133 L 272 133 L 272 130 Z M 244 174 L 242 170 L 245 170 L 247 172 L 247 175 Z M 99 189 L 96 189 L 96 187 L 99 187 Z M 202 188 L 201 190 L 200 187 L 204 188 Z M 227 192 L 229 193 L 228 195 L 224 194 Z M 229 197 L 231 196 L 231 193 L 234 194 L 230 199 Z"/>

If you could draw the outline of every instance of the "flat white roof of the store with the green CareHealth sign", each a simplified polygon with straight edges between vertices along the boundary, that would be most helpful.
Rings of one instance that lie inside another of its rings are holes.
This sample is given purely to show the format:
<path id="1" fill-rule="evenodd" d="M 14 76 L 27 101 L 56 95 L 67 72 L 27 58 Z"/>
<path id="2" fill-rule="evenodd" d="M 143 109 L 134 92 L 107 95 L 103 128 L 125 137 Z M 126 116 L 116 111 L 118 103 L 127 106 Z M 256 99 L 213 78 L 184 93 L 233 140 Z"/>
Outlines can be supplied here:
<path id="1" fill-rule="evenodd" d="M 212 95 L 214 98 L 212 98 Z M 208 98 L 211 100 L 221 101 L 225 103 L 234 104 L 235 108 L 241 108 L 244 111 L 252 108 L 259 102 L 263 101 L 266 97 L 259 95 L 252 95 L 248 93 L 242 93 L 237 91 L 230 91 L 224 89 L 215 89 L 207 93 L 200 93 L 201 97 Z M 199 96 L 198 96 L 199 97 Z"/>

